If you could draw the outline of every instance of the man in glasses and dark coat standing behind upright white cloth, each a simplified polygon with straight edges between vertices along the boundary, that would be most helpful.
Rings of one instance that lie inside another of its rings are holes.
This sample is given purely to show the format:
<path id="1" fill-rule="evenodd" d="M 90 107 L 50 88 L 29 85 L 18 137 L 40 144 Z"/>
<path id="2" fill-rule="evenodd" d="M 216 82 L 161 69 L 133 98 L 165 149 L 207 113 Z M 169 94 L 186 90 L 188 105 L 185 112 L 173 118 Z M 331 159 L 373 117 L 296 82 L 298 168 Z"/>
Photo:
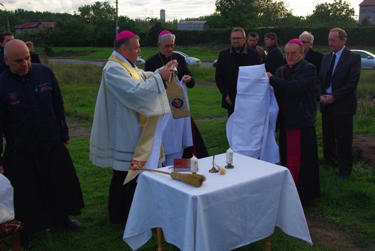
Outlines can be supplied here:
<path id="1" fill-rule="evenodd" d="M 242 28 L 233 28 L 230 42 L 229 48 L 220 51 L 215 72 L 216 85 L 222 94 L 221 107 L 228 110 L 228 117 L 234 111 L 238 67 L 260 64 L 259 53 L 247 47 L 245 31 Z"/>

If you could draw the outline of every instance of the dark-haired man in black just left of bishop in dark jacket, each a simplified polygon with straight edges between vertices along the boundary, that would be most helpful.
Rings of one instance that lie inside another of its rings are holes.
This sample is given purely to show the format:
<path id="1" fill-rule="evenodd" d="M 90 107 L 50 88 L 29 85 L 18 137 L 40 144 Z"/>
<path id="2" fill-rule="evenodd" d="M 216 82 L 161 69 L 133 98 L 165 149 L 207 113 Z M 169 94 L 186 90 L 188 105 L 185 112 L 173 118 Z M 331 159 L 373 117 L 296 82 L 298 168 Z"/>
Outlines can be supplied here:
<path id="1" fill-rule="evenodd" d="M 264 46 L 267 48 L 267 55 L 264 59 L 265 70 L 274 75 L 276 69 L 283 64 L 284 59 L 282 51 L 277 45 L 275 33 L 269 32 L 264 35 Z"/>

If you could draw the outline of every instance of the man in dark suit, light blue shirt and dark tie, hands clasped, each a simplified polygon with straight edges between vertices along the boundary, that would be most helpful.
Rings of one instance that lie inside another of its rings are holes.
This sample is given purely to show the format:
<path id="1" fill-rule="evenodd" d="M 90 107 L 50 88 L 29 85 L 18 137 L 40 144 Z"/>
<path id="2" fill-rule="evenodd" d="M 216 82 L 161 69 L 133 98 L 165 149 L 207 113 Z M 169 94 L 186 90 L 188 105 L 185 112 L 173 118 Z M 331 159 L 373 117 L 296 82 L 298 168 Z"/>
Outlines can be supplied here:
<path id="1" fill-rule="evenodd" d="M 360 55 L 345 47 L 346 32 L 331 29 L 328 44 L 331 53 L 321 61 L 316 84 L 320 100 L 324 162 L 338 166 L 343 179 L 350 175 L 353 165 L 353 114 L 357 99 L 356 87 L 360 76 Z"/>

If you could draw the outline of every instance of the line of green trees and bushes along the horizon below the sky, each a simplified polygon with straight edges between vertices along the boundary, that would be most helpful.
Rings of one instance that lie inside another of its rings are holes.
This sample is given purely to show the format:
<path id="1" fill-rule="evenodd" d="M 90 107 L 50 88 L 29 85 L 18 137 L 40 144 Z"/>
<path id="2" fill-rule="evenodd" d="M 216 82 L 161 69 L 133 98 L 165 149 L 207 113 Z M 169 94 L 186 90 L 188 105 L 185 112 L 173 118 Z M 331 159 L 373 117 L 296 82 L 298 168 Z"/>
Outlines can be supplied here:
<path id="1" fill-rule="evenodd" d="M 22 40 L 31 40 L 45 50 L 52 46 L 112 46 L 115 38 L 115 8 L 109 2 L 95 2 L 78 7 L 73 14 L 51 13 L 48 11 L 28 11 L 16 9 L 0 10 L 0 30 L 7 30 L 6 15 L 10 31 L 14 26 L 25 22 L 55 21 L 54 30 L 42 28 L 16 35 Z M 259 27 L 357 27 L 368 26 L 368 20 L 358 24 L 354 9 L 346 1 L 334 0 L 333 3 L 319 3 L 313 13 L 306 16 L 294 16 L 288 5 L 276 0 L 216 0 L 215 11 L 198 18 L 161 21 L 158 18 L 130 19 L 118 16 L 119 30 L 128 29 L 139 34 L 143 46 L 153 46 L 157 33 L 162 29 L 177 30 L 177 24 L 183 20 L 206 20 L 210 33 L 231 27 L 255 29 Z M 193 32 L 196 33 L 195 31 Z M 225 33 L 225 32 L 224 32 Z M 196 37 L 196 36 L 195 36 Z M 199 36 L 201 37 L 201 36 Z M 202 41 L 188 39 L 196 44 Z"/>

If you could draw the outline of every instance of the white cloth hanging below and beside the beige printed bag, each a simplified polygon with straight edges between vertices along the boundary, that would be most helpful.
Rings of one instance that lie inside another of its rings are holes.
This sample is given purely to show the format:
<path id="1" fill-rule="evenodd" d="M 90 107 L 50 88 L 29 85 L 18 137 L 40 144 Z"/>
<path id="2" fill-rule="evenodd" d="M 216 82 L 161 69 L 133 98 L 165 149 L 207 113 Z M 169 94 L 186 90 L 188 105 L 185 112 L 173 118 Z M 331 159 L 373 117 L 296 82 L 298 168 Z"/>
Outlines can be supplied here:
<path id="1" fill-rule="evenodd" d="M 189 108 L 186 84 L 182 81 L 182 79 L 178 82 L 180 86 L 182 86 L 183 94 L 186 98 L 186 104 Z M 172 113 L 165 114 L 163 118 L 161 142 L 165 154 L 165 161 L 163 164 L 173 165 L 173 159 L 181 158 L 183 149 L 192 146 L 190 116 L 173 119 Z"/>

